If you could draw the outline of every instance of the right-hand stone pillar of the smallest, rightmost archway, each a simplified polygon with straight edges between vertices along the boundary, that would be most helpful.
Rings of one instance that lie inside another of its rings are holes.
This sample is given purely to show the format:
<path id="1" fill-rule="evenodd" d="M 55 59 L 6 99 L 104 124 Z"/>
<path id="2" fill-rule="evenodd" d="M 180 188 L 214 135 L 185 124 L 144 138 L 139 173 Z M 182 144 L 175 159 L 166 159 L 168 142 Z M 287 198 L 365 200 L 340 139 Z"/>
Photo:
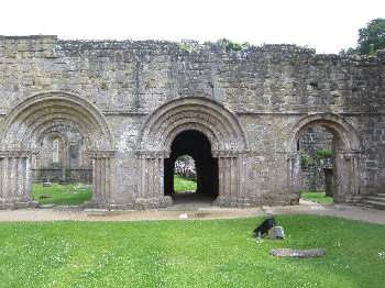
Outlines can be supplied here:
<path id="1" fill-rule="evenodd" d="M 356 151 L 338 151 L 336 153 L 336 202 L 344 202 L 360 193 L 360 153 Z"/>

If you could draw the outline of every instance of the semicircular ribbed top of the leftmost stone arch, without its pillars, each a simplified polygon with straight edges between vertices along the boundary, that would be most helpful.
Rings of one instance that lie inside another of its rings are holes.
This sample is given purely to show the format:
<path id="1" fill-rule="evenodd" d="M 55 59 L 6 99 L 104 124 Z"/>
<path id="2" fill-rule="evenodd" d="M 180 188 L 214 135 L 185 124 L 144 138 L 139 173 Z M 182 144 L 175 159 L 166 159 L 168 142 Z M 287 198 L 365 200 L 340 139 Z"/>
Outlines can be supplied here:
<path id="1" fill-rule="evenodd" d="M 33 148 L 42 131 L 54 121 L 80 128 L 89 140 L 89 149 L 114 147 L 112 133 L 96 106 L 74 93 L 48 91 L 28 98 L 10 111 L 1 148 Z"/>

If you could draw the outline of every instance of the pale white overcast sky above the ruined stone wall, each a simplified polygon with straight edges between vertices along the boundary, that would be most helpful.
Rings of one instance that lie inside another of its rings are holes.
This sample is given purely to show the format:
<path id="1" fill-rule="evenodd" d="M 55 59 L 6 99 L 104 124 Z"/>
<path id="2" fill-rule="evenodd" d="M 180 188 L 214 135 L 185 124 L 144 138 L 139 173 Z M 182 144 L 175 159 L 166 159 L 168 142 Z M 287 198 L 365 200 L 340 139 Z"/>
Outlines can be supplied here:
<path id="1" fill-rule="evenodd" d="M 385 0 L 1 0 L 0 35 L 200 42 L 226 37 L 338 53 L 356 46 L 359 29 L 375 18 L 385 18 Z"/>

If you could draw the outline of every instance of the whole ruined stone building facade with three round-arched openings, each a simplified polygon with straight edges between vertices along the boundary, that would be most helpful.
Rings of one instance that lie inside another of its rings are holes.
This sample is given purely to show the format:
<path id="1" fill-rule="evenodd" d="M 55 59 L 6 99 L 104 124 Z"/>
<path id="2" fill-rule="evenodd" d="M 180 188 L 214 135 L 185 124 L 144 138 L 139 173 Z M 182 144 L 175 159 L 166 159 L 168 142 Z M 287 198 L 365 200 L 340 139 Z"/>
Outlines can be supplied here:
<path id="1" fill-rule="evenodd" d="M 385 187 L 384 52 L 0 36 L 0 99 L 1 208 L 50 167 L 89 169 L 95 207 L 169 206 L 185 154 L 217 204 L 297 203 L 309 128 L 332 135 L 336 201 Z"/>

